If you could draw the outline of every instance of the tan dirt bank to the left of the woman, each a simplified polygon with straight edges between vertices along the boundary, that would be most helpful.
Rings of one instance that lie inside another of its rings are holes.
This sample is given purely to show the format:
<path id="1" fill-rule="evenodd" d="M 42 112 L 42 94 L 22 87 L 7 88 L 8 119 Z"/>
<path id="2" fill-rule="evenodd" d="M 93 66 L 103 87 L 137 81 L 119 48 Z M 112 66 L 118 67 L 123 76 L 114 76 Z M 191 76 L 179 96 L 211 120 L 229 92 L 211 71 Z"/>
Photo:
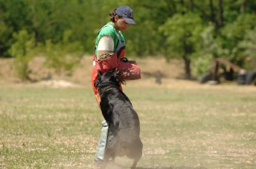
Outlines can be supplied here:
<path id="1" fill-rule="evenodd" d="M 28 84 L 22 82 L 16 75 L 13 58 L 0 59 L 1 84 Z M 45 66 L 45 57 L 38 56 L 31 59 L 28 64 L 29 78 L 33 84 L 42 84 L 54 87 L 71 87 L 75 84 L 88 84 L 92 71 L 92 58 L 84 56 L 71 73 L 65 71 L 56 73 L 53 68 Z"/>

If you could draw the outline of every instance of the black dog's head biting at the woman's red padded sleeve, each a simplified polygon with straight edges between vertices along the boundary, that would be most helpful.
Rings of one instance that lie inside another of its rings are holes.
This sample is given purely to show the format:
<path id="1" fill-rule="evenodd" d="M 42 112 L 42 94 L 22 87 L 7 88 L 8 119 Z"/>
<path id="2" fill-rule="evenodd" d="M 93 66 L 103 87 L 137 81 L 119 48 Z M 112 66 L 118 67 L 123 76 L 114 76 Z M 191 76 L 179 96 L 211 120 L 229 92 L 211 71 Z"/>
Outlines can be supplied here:
<path id="1" fill-rule="evenodd" d="M 116 87 L 119 86 L 119 80 L 118 80 L 118 69 L 109 70 L 103 75 L 98 72 L 98 78 L 94 82 L 95 87 L 99 87 L 100 84 L 113 84 L 116 85 Z"/>

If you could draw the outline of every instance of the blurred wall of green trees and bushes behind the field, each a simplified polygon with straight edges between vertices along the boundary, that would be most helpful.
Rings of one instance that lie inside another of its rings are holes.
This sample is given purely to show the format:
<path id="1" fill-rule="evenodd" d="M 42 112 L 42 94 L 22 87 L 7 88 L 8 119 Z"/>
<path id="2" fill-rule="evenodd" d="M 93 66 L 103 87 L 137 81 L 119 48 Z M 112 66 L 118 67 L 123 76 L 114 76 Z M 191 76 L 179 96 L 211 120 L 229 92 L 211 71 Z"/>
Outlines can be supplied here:
<path id="1" fill-rule="evenodd" d="M 137 22 L 124 31 L 128 57 L 177 58 L 188 79 L 202 77 L 218 57 L 255 70 L 253 0 L 0 0 L 0 57 L 14 58 L 23 81 L 38 80 L 29 75 L 29 62 L 38 55 L 47 68 L 72 74 L 84 54 L 93 55 L 108 13 L 123 4 L 131 6 Z"/>

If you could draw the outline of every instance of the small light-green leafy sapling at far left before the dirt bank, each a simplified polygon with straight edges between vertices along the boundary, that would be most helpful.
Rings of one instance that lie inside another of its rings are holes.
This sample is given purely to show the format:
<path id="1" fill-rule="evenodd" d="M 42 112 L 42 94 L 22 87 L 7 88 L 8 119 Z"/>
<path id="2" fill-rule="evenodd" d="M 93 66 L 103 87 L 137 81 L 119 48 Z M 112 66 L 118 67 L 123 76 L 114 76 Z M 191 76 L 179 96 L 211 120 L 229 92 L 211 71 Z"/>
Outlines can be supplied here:
<path id="1" fill-rule="evenodd" d="M 22 80 L 28 80 L 28 62 L 35 54 L 35 36 L 29 35 L 28 31 L 22 30 L 13 34 L 13 43 L 10 54 L 15 57 L 15 69 Z"/>

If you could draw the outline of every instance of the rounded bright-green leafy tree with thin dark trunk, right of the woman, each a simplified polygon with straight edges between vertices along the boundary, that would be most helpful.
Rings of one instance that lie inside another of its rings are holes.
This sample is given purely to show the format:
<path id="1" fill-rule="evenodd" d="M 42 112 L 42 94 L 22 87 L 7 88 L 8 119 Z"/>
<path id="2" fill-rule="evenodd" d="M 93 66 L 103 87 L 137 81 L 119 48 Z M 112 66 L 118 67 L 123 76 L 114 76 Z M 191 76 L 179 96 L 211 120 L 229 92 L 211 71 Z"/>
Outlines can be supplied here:
<path id="1" fill-rule="evenodd" d="M 159 31 L 166 36 L 166 57 L 182 57 L 185 65 L 186 78 L 191 78 L 190 63 L 193 54 L 202 45 L 200 33 L 202 31 L 202 20 L 198 15 L 186 13 L 175 14 L 168 18 Z"/>

